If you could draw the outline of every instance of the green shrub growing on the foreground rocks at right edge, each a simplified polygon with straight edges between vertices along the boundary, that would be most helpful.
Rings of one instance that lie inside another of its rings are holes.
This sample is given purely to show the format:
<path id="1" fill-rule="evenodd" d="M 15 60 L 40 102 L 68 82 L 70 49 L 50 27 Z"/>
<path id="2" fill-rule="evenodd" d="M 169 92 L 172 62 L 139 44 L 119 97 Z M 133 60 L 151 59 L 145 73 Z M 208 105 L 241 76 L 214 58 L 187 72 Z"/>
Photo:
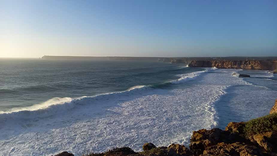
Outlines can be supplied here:
<path id="1" fill-rule="evenodd" d="M 243 128 L 246 137 L 269 131 L 277 131 L 277 113 L 249 120 Z"/>

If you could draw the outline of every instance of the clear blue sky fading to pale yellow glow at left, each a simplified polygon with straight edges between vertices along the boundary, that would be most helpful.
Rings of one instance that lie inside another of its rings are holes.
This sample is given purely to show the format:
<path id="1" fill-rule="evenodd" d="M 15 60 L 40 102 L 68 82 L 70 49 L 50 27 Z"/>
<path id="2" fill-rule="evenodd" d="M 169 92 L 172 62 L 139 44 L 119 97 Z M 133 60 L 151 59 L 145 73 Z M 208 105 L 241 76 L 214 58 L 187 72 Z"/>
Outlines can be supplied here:
<path id="1" fill-rule="evenodd" d="M 0 0 L 0 57 L 277 56 L 276 8 L 276 0 Z"/>

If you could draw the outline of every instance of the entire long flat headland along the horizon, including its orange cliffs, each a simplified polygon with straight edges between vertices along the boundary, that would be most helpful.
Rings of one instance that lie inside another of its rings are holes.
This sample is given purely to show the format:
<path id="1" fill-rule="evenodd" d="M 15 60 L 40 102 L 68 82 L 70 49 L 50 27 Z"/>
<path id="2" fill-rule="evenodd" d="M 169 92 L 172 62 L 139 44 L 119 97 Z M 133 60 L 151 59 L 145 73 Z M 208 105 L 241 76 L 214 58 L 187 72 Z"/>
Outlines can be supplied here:
<path id="1" fill-rule="evenodd" d="M 49 56 L 44 60 L 122 60 L 186 63 L 189 67 L 217 67 L 224 69 L 277 70 L 277 57 L 125 57 L 125 56 Z"/>

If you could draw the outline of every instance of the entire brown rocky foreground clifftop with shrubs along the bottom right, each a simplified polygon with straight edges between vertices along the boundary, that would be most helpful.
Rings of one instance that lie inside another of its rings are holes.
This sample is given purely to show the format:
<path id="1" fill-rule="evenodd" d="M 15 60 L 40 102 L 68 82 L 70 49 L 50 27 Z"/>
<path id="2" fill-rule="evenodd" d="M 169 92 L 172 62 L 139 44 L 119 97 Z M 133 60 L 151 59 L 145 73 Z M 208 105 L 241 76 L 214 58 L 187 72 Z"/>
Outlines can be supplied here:
<path id="1" fill-rule="evenodd" d="M 225 130 L 193 131 L 189 149 L 179 144 L 156 147 L 152 143 L 145 143 L 142 148 L 143 152 L 121 147 L 83 156 L 277 156 L 277 100 L 267 116 L 230 122 Z M 74 155 L 62 152 L 55 156 Z"/>

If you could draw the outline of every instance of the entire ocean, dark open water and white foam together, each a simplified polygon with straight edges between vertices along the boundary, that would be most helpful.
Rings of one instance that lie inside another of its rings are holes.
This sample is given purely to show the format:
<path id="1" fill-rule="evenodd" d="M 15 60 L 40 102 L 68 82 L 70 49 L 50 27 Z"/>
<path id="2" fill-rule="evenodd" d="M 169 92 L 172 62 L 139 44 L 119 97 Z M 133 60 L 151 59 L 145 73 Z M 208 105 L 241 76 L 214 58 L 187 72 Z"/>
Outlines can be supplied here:
<path id="1" fill-rule="evenodd" d="M 266 70 L 0 59 L 0 155 L 188 146 L 192 131 L 264 116 L 275 98 Z"/>

